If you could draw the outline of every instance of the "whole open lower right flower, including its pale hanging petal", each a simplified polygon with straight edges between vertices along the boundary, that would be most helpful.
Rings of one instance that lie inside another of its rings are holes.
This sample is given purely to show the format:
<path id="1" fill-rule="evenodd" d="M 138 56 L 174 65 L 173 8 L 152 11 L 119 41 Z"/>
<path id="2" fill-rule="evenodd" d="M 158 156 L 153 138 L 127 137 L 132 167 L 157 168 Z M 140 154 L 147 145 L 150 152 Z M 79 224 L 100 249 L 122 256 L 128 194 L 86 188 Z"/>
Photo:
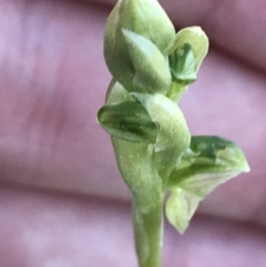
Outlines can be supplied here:
<path id="1" fill-rule="evenodd" d="M 249 166 L 236 144 L 218 136 L 192 136 L 190 148 L 170 175 L 167 187 L 172 195 L 166 204 L 170 223 L 183 233 L 198 203 L 242 172 L 249 172 Z"/>

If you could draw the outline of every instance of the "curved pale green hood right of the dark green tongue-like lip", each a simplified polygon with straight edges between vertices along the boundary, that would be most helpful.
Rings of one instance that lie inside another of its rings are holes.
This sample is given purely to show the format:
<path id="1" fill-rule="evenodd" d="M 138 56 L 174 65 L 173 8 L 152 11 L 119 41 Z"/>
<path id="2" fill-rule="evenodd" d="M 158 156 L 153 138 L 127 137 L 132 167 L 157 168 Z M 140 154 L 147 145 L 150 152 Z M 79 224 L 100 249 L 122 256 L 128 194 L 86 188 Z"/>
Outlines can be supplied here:
<path id="1" fill-rule="evenodd" d="M 180 107 L 162 94 L 131 93 L 157 125 L 155 165 L 166 182 L 191 142 L 190 130 Z"/>

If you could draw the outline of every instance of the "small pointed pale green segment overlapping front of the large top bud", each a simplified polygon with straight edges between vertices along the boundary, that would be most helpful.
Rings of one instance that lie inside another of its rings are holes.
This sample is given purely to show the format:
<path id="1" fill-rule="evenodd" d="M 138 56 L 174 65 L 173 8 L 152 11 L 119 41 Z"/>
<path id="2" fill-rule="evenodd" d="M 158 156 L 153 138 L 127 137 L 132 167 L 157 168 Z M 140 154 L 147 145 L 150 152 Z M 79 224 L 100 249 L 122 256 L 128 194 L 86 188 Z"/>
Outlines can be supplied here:
<path id="1" fill-rule="evenodd" d="M 166 58 L 149 39 L 122 31 L 135 70 L 133 83 L 149 93 L 165 93 L 172 80 Z"/>

